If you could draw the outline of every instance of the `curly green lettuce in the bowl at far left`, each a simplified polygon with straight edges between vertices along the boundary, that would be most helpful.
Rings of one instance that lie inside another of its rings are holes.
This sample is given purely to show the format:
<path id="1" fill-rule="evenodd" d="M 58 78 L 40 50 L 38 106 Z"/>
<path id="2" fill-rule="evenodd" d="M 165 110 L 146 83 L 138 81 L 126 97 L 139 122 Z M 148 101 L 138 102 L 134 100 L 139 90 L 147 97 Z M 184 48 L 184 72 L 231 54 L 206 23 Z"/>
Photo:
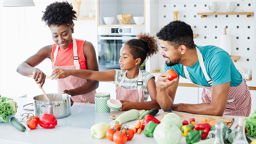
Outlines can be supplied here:
<path id="1" fill-rule="evenodd" d="M 2 97 L 0 95 L 0 118 L 3 122 L 7 122 L 8 120 L 6 120 L 6 116 L 10 116 L 12 114 L 14 114 L 14 109 L 13 107 L 10 105 L 9 100 L 13 100 L 11 98 L 7 98 L 7 97 Z M 18 106 L 17 103 L 15 103 L 15 111 L 17 110 Z"/>

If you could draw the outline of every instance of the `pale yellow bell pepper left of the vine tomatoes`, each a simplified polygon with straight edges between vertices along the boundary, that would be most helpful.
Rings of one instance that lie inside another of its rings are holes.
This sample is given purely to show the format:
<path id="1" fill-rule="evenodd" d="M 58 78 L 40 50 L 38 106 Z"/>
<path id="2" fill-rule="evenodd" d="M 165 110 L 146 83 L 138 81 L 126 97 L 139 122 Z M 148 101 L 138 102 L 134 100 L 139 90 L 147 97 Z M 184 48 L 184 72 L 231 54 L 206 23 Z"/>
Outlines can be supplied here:
<path id="1" fill-rule="evenodd" d="M 91 127 L 92 138 L 101 139 L 106 135 L 107 130 L 110 128 L 109 123 L 97 123 Z"/>

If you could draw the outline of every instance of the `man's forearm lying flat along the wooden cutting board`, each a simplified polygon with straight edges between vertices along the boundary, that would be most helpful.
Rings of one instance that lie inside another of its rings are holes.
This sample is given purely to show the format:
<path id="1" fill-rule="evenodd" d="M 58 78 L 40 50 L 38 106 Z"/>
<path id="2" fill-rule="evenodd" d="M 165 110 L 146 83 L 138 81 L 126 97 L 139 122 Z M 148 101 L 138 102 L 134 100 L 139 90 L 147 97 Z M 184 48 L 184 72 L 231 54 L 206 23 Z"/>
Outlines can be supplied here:
<path id="1" fill-rule="evenodd" d="M 223 108 L 219 106 L 214 106 L 211 103 L 201 103 L 201 104 L 177 104 L 172 108 L 174 111 L 187 112 L 191 114 L 200 115 L 213 115 L 222 116 L 224 113 Z"/>

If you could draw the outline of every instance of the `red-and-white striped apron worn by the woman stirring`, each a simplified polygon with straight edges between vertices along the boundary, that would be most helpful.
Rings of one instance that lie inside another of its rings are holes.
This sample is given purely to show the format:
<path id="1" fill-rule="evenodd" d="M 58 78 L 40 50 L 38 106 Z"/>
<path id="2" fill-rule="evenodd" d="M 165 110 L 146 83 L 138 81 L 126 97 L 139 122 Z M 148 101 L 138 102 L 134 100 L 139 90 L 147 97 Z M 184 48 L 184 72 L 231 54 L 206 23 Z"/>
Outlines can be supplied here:
<path id="1" fill-rule="evenodd" d="M 77 43 L 74 38 L 72 38 L 72 40 L 73 40 L 74 65 L 55 66 L 58 49 L 59 49 L 59 46 L 57 45 L 57 48 L 54 52 L 54 61 L 52 64 L 52 70 L 55 70 L 55 69 L 80 70 L 80 64 L 79 64 L 78 56 L 77 56 Z M 71 76 L 71 75 L 64 79 L 57 79 L 58 92 L 62 93 L 64 90 L 71 90 L 74 88 L 81 87 L 82 85 L 86 84 L 87 82 L 89 82 L 89 80 L 81 79 L 81 78 Z M 93 90 L 87 94 L 72 96 L 71 99 L 74 102 L 95 104 L 94 94 L 96 94 L 95 90 Z"/>

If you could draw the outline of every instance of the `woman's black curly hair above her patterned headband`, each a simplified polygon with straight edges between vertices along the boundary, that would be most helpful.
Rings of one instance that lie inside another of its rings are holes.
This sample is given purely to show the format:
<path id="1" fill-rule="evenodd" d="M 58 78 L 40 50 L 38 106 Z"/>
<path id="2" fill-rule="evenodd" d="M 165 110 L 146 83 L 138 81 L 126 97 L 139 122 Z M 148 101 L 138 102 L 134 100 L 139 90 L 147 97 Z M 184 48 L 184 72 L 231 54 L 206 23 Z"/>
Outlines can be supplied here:
<path id="1" fill-rule="evenodd" d="M 71 4 L 66 2 L 54 2 L 45 8 L 45 12 L 42 17 L 48 27 L 50 25 L 61 25 L 61 24 L 73 24 L 73 20 L 76 20 L 76 11 L 73 10 Z"/>

